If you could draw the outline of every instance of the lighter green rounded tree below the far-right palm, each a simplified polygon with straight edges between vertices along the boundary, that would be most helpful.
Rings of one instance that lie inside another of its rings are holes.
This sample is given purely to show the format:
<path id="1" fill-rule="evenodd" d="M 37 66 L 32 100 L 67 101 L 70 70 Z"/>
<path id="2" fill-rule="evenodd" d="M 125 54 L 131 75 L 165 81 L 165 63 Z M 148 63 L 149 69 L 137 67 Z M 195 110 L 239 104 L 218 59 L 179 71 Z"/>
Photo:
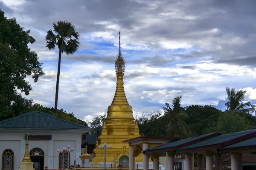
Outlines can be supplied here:
<path id="1" fill-rule="evenodd" d="M 239 132 L 249 130 L 254 126 L 247 118 L 241 117 L 233 111 L 225 111 L 221 113 L 218 122 L 211 123 L 205 130 L 205 133 L 219 132 L 221 134 Z"/>

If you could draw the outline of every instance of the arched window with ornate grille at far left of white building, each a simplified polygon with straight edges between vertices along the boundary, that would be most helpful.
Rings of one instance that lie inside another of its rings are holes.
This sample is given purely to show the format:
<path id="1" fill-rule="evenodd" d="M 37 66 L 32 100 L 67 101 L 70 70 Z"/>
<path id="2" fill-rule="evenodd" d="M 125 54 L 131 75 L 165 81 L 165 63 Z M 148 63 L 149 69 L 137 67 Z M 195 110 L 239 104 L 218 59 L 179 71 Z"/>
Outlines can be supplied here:
<path id="1" fill-rule="evenodd" d="M 6 149 L 2 154 L 2 170 L 13 170 L 14 153 L 11 149 Z"/>

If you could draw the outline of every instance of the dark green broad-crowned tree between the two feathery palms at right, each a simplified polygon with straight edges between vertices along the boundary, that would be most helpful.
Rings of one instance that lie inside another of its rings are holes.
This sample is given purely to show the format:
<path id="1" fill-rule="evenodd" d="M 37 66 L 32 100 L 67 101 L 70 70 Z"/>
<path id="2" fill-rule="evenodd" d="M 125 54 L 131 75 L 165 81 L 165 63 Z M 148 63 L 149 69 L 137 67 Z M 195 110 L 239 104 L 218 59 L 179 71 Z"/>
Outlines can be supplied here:
<path id="1" fill-rule="evenodd" d="M 192 136 L 200 136 L 209 123 L 218 121 L 218 117 L 222 113 L 221 110 L 216 109 L 211 105 L 190 105 L 184 107 L 189 119 L 185 123 L 189 126 Z"/>

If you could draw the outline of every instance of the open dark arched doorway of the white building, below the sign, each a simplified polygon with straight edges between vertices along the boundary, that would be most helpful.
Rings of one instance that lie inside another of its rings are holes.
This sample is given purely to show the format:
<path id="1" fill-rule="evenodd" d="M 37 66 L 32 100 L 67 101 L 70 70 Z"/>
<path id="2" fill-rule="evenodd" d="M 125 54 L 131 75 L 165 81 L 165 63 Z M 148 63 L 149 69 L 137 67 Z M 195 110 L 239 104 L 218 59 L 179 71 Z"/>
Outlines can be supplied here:
<path id="1" fill-rule="evenodd" d="M 30 159 L 34 162 L 35 170 L 44 170 L 44 150 L 39 147 L 35 147 L 29 152 Z"/>

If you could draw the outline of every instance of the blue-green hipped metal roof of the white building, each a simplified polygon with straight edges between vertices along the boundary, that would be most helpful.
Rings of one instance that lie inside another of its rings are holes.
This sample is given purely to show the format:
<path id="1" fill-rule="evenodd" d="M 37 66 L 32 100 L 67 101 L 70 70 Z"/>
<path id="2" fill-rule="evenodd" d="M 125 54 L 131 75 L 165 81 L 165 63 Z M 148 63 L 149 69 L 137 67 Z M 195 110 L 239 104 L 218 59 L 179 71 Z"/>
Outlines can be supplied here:
<path id="1" fill-rule="evenodd" d="M 61 119 L 41 111 L 32 111 L 20 116 L 0 121 L 0 128 L 91 130 L 90 127 Z"/>

